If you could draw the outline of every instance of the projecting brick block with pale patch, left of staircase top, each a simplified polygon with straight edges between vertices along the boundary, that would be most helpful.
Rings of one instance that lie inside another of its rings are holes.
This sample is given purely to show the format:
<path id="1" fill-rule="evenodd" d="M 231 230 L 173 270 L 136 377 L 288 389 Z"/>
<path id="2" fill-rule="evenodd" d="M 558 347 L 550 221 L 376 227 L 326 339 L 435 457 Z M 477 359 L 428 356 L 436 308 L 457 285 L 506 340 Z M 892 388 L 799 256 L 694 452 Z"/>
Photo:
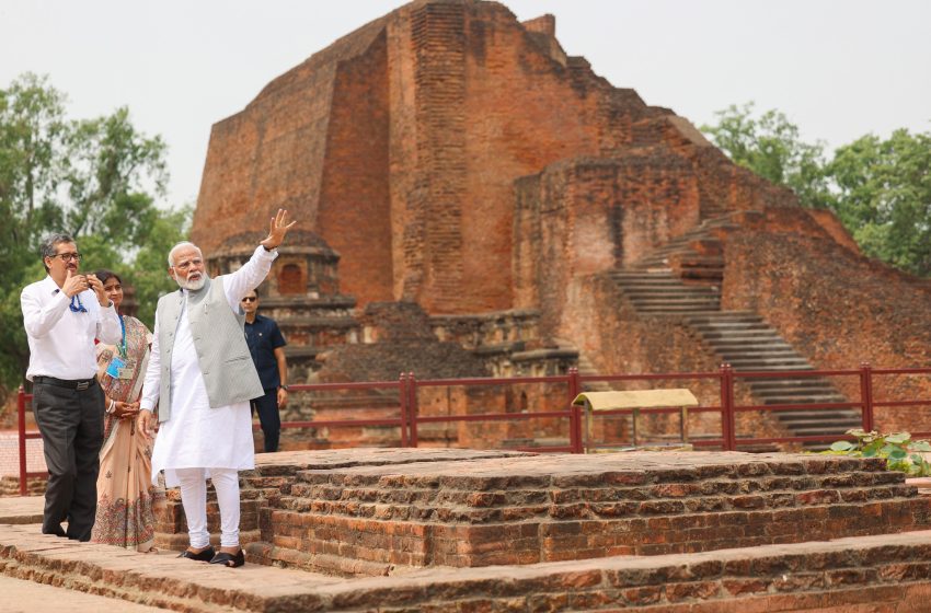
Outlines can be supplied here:
<path id="1" fill-rule="evenodd" d="M 629 265 L 700 215 L 691 164 L 663 147 L 561 162 L 516 189 L 515 300 L 540 308 L 544 336 L 566 315 L 573 278 Z"/>

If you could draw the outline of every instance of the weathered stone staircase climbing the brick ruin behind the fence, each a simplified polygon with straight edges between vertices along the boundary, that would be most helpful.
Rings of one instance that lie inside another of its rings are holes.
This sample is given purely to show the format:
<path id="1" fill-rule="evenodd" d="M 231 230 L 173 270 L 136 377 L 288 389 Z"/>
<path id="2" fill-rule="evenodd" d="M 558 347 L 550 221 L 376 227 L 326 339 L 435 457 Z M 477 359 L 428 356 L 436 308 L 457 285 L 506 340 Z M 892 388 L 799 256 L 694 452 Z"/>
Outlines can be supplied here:
<path id="1" fill-rule="evenodd" d="M 681 317 L 704 344 L 736 371 L 805 371 L 812 365 L 755 313 L 721 310 L 720 284 L 724 259 L 717 229 L 729 217 L 708 220 L 644 257 L 632 269 L 610 273 L 637 313 Z M 674 273 L 673 266 L 676 267 Z M 676 274 L 677 273 L 677 274 Z M 759 404 L 843 403 L 831 382 L 819 377 L 744 380 Z M 840 436 L 862 425 L 860 412 L 849 408 L 773 412 L 791 436 Z M 809 441 L 805 449 L 829 442 Z"/>

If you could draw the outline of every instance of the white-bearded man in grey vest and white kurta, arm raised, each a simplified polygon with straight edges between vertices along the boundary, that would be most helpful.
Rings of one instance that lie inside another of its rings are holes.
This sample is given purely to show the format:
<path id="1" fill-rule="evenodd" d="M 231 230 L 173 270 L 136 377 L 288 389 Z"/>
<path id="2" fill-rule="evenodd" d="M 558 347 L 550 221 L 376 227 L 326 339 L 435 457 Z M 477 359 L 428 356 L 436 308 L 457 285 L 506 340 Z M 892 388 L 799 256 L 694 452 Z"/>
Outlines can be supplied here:
<path id="1" fill-rule="evenodd" d="M 262 384 L 245 344 L 240 300 L 268 275 L 295 223 L 279 209 L 250 261 L 214 279 L 196 245 L 179 243 L 169 253 L 169 275 L 181 289 L 159 300 L 139 423 L 151 436 L 158 408 L 152 479 L 163 470 L 165 485 L 181 486 L 191 544 L 180 557 L 231 567 L 245 562 L 238 471 L 255 467 L 249 401 L 262 394 Z M 220 507 L 216 554 L 207 532 L 207 477 Z"/>

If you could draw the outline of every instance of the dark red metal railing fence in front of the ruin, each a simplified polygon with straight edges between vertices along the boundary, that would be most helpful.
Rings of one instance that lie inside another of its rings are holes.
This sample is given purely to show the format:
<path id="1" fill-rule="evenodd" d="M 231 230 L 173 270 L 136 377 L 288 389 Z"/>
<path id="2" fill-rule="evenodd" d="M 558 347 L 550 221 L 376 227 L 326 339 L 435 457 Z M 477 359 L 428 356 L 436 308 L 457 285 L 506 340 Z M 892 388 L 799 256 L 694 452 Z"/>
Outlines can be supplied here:
<path id="1" fill-rule="evenodd" d="M 359 426 L 396 426 L 400 430 L 401 447 L 417 447 L 417 427 L 421 424 L 458 423 L 458 421 L 502 421 L 502 420 L 526 420 L 541 418 L 563 418 L 567 421 L 568 444 L 533 447 L 538 452 L 568 452 L 583 453 L 583 415 L 582 407 L 572 406 L 572 401 L 586 389 L 587 383 L 610 383 L 624 381 L 673 381 L 689 380 L 700 382 L 702 380 L 716 380 L 721 389 L 721 404 L 717 406 L 699 406 L 690 408 L 689 413 L 720 413 L 721 437 L 692 441 L 697 447 L 717 447 L 733 451 L 737 449 L 738 438 L 736 428 L 736 415 L 744 412 L 768 412 L 768 410 L 830 410 L 838 408 L 860 409 L 863 429 L 870 431 L 874 428 L 874 413 L 882 407 L 901 406 L 931 406 L 931 400 L 900 400 L 877 401 L 874 397 L 873 383 L 876 378 L 897 374 L 931 375 L 931 368 L 906 368 L 906 369 L 874 369 L 869 363 L 862 363 L 859 369 L 852 370 L 797 370 L 797 371 L 740 371 L 735 372 L 729 365 L 722 365 L 715 372 L 677 372 L 659 374 L 579 374 L 578 370 L 571 368 L 567 374 L 554 377 L 519 377 L 509 379 L 433 379 L 418 381 L 413 372 L 402 373 L 398 381 L 375 381 L 361 383 L 320 383 L 309 385 L 290 385 L 291 392 L 341 392 L 347 390 L 395 390 L 398 394 L 398 416 L 380 419 L 329 419 L 310 421 L 285 421 L 281 428 L 344 428 Z M 805 379 L 818 377 L 855 378 L 859 380 L 860 398 L 858 402 L 843 403 L 811 403 L 811 404 L 768 404 L 768 405 L 737 405 L 734 400 L 734 388 L 738 380 L 747 379 Z M 527 383 L 547 383 L 565 385 L 565 408 L 562 410 L 524 412 L 524 413 L 481 413 L 469 415 L 421 415 L 417 407 L 417 391 L 428 388 L 451 388 L 463 385 L 518 385 Z M 26 479 L 28 477 L 44 476 L 46 473 L 30 473 L 26 471 L 26 439 L 41 438 L 38 432 L 25 431 L 25 407 L 32 396 L 20 388 L 19 430 L 20 430 L 20 494 L 25 496 Z M 674 413 L 678 409 L 654 408 L 642 409 L 641 414 L 647 413 Z M 632 409 L 619 409 L 602 412 L 602 414 L 631 414 Z M 913 438 L 931 437 L 931 431 L 911 432 Z M 765 444 L 780 442 L 826 442 L 838 440 L 838 435 L 828 436 L 804 436 L 804 437 L 770 437 L 770 438 L 739 438 L 740 444 Z"/>

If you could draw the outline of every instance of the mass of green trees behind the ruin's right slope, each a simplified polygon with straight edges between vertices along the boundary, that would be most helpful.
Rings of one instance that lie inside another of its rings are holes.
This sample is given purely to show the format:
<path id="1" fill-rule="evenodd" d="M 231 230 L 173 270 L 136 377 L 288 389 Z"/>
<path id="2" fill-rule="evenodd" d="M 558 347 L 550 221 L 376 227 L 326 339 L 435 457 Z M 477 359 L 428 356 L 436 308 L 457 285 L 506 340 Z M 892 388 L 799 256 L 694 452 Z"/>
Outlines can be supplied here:
<path id="1" fill-rule="evenodd" d="M 731 106 L 702 130 L 735 163 L 791 187 L 803 206 L 832 209 L 866 255 L 931 276 L 931 132 L 867 135 L 828 161 L 785 115 L 752 111 Z"/>

